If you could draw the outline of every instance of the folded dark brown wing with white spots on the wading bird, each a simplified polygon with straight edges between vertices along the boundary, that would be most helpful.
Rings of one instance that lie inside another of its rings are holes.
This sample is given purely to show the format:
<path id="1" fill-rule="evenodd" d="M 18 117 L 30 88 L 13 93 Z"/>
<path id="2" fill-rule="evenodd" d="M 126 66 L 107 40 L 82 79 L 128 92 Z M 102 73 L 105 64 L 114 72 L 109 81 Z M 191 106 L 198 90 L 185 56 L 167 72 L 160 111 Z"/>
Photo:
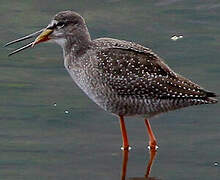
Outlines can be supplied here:
<path id="1" fill-rule="evenodd" d="M 102 41 L 103 42 L 103 41 Z M 115 44 L 112 44 L 115 43 Z M 125 41 L 97 51 L 99 77 L 118 95 L 140 98 L 215 97 L 172 71 L 150 49 Z"/>

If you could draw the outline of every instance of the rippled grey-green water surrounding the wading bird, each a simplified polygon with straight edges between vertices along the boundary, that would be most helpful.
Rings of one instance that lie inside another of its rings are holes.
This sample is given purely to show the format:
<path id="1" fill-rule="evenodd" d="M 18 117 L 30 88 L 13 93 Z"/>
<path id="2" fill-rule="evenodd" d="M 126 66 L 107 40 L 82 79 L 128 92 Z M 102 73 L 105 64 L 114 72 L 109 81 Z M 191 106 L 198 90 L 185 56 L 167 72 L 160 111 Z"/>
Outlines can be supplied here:
<path id="1" fill-rule="evenodd" d="M 120 179 L 117 118 L 99 109 L 72 82 L 62 50 L 40 44 L 7 57 L 19 45 L 2 47 L 45 27 L 54 14 L 67 9 L 84 16 L 92 38 L 148 46 L 176 72 L 220 93 L 218 0 L 1 0 L 0 179 Z M 173 35 L 183 38 L 173 41 Z M 218 180 L 219 108 L 203 105 L 152 119 L 159 150 L 150 176 Z M 128 118 L 126 125 L 133 147 L 127 178 L 144 177 L 149 159 L 144 122 Z"/>

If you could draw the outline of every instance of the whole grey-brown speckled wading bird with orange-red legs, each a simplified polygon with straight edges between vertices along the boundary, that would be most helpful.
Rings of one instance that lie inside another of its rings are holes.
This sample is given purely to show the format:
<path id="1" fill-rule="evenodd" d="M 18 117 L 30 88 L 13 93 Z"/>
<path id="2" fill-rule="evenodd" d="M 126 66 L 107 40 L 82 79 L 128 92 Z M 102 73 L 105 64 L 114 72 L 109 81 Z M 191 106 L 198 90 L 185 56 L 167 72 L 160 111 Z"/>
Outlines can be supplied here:
<path id="1" fill-rule="evenodd" d="M 119 116 L 124 149 L 129 149 L 125 116 L 145 118 L 149 147 L 155 149 L 149 118 L 187 106 L 217 103 L 215 93 L 175 73 L 151 49 L 112 38 L 92 40 L 76 12 L 59 12 L 46 28 L 6 46 L 32 37 L 36 37 L 33 42 L 9 55 L 41 42 L 59 44 L 64 66 L 75 83 L 101 108 Z"/>

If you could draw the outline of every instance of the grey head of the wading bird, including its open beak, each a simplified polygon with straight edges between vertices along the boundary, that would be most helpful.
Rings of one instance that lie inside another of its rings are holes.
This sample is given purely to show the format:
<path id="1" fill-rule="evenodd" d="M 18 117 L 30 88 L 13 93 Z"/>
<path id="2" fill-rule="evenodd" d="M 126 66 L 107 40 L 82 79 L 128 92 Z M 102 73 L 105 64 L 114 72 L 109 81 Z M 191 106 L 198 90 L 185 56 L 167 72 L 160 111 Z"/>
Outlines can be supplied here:
<path id="1" fill-rule="evenodd" d="M 37 37 L 36 37 L 37 36 Z M 34 47 L 36 44 L 42 42 L 55 42 L 61 47 L 65 47 L 67 43 L 79 44 L 85 41 L 90 41 L 90 35 L 86 27 L 85 21 L 78 13 L 73 11 L 61 11 L 56 14 L 46 28 L 40 31 L 27 35 L 25 37 L 16 39 L 7 43 L 8 46 L 32 37 L 36 39 L 30 44 L 21 47 L 9 55 L 15 54 L 29 47 Z"/>

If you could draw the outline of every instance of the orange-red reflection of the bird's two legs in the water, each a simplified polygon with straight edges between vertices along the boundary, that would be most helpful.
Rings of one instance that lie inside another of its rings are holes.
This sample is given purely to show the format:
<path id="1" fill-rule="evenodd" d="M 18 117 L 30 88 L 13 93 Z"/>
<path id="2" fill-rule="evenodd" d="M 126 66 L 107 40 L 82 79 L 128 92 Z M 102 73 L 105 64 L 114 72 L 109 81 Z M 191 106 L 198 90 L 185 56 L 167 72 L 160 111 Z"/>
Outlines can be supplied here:
<path id="1" fill-rule="evenodd" d="M 159 180 L 158 178 L 150 177 L 151 167 L 152 167 L 154 159 L 156 157 L 157 150 L 150 149 L 149 154 L 150 154 L 150 159 L 147 163 L 145 176 L 126 178 L 129 150 L 124 150 L 123 151 L 122 169 L 121 169 L 121 180 Z"/>

